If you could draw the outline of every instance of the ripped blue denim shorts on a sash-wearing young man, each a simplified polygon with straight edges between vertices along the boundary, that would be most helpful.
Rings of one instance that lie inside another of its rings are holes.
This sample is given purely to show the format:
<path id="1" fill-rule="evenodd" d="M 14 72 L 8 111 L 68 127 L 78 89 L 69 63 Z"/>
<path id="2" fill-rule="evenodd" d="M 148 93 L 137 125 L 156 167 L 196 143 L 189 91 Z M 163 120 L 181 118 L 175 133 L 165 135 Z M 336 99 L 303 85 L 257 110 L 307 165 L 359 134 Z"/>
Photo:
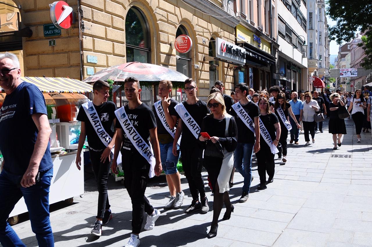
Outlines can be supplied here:
<path id="1" fill-rule="evenodd" d="M 180 152 L 177 156 L 174 156 L 172 153 L 173 141 L 167 144 L 161 144 L 160 146 L 160 160 L 163 171 L 166 175 L 174 174 L 177 172 L 177 163 L 178 158 L 180 157 Z M 180 149 L 180 146 L 177 144 L 177 150 Z"/>

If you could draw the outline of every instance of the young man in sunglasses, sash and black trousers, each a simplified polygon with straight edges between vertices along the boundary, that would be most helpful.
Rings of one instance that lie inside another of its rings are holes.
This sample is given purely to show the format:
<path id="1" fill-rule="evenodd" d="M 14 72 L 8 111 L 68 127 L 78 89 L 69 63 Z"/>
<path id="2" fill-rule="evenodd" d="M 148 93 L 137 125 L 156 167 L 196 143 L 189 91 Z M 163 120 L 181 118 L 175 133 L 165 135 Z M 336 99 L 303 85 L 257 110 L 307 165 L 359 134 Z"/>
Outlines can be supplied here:
<path id="1" fill-rule="evenodd" d="M 202 100 L 196 97 L 196 82 L 192 79 L 186 79 L 185 81 L 185 92 L 187 100 L 182 102 L 183 107 L 187 110 L 184 116 L 190 119 L 188 116 L 195 120 L 191 124 L 187 124 L 182 121 L 180 115 L 176 110 L 172 110 L 170 115 L 177 116 L 178 125 L 176 129 L 176 135 L 173 141 L 173 154 L 177 155 L 177 142 L 181 138 L 180 151 L 182 157 L 182 168 L 185 171 L 187 182 L 189 183 L 190 193 L 192 196 L 192 203 L 186 209 L 185 213 L 189 214 L 197 210 L 201 210 L 203 214 L 208 212 L 208 200 L 205 196 L 204 181 L 202 178 L 202 150 L 198 147 L 198 139 L 195 137 L 200 134 L 200 127 L 203 118 L 209 113 L 207 105 Z M 189 127 L 192 125 L 193 132 L 190 131 Z M 199 202 L 199 193 L 201 202 Z"/>

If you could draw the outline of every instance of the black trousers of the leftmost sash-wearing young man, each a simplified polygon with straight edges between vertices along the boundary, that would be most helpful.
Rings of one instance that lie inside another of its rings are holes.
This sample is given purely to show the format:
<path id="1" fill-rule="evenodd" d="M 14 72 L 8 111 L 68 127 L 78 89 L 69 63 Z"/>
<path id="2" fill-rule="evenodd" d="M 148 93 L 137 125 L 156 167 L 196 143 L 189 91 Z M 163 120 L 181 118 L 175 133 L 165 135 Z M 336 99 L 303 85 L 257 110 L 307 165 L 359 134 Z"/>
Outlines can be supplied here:
<path id="1" fill-rule="evenodd" d="M 98 209 L 97 218 L 102 218 L 105 215 L 105 210 L 110 209 L 109 197 L 107 193 L 107 179 L 111 168 L 113 154 L 110 153 L 110 161 L 106 158 L 105 163 L 101 162 L 101 155 L 103 151 L 89 150 L 90 161 L 92 163 L 92 170 L 94 178 L 96 179 L 98 188 Z"/>

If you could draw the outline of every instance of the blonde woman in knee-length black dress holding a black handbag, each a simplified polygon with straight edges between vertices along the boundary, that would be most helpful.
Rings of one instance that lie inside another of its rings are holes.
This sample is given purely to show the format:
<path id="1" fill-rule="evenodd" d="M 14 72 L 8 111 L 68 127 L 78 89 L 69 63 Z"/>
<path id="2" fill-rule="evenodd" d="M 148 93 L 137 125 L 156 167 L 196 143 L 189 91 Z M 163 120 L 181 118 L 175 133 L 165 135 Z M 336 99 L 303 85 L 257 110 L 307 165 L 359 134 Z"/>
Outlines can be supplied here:
<path id="1" fill-rule="evenodd" d="M 333 149 L 337 149 L 337 145 L 341 147 L 341 137 L 346 135 L 345 120 L 339 118 L 339 108 L 345 107 L 345 103 L 340 99 L 340 94 L 333 93 L 330 96 L 332 102 L 329 103 L 330 119 L 328 123 L 328 133 L 333 135 Z"/>

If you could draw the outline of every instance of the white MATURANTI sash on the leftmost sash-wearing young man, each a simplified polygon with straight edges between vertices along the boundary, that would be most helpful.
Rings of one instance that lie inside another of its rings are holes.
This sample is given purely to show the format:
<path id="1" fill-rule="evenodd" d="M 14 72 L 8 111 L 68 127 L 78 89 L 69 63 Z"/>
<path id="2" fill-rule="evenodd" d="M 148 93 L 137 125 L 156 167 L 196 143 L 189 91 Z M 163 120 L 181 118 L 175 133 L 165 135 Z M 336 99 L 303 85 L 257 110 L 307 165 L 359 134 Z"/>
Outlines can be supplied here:
<path id="1" fill-rule="evenodd" d="M 102 141 L 103 145 L 105 145 L 107 147 L 110 144 L 112 138 L 110 137 L 109 134 L 107 134 L 107 132 L 103 128 L 103 126 L 101 124 L 101 120 L 100 120 L 100 118 L 98 116 L 98 113 L 96 111 L 96 108 L 94 108 L 93 102 L 88 101 L 81 106 L 83 106 L 83 109 L 84 109 L 90 123 L 92 124 L 93 129 L 96 131 L 99 139 Z"/>

